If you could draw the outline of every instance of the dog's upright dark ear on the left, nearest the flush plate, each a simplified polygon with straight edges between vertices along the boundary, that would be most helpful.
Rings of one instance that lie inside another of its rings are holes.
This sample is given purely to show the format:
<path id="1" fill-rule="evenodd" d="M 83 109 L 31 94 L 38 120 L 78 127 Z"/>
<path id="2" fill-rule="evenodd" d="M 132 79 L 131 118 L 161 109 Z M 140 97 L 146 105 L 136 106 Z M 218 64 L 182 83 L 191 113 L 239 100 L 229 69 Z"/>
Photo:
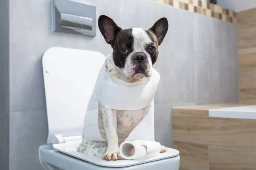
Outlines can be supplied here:
<path id="1" fill-rule="evenodd" d="M 122 28 L 117 26 L 116 23 L 106 15 L 101 15 L 99 17 L 98 26 L 106 42 L 112 46 L 116 33 Z"/>

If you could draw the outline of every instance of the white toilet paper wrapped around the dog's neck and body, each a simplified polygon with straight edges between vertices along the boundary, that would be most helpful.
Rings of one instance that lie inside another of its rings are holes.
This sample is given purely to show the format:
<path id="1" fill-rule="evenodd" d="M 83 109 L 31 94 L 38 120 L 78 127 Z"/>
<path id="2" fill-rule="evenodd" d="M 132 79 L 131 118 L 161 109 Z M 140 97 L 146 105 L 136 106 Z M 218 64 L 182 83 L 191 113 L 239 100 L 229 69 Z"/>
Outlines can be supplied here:
<path id="1" fill-rule="evenodd" d="M 151 77 L 140 82 L 125 82 L 108 74 L 104 63 L 87 106 L 84 137 L 88 140 L 105 141 L 98 127 L 99 102 L 105 108 L 114 110 L 138 110 L 151 105 L 148 114 L 134 128 L 126 141 L 154 141 L 154 95 L 159 80 L 160 75 L 153 68 Z"/>

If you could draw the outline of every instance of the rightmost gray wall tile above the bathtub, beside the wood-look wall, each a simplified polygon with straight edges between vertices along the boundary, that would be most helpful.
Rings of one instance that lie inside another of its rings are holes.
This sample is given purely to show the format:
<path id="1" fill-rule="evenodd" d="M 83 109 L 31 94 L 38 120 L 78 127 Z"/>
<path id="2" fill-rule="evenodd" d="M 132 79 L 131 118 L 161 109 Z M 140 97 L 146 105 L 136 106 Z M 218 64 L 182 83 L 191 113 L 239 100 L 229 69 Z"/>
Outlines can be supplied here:
<path id="1" fill-rule="evenodd" d="M 202 22 L 202 18 L 194 26 L 198 30 L 194 45 L 196 103 L 238 102 L 236 26 L 215 19 Z"/>

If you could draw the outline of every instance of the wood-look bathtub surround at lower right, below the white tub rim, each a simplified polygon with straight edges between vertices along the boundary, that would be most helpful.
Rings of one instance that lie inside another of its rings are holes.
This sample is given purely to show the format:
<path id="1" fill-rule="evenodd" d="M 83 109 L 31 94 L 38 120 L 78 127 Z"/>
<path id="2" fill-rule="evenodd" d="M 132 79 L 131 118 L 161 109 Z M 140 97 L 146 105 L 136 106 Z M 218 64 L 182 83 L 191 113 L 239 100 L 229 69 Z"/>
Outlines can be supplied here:
<path id="1" fill-rule="evenodd" d="M 209 117 L 209 109 L 242 105 L 172 108 L 180 170 L 256 170 L 256 120 Z"/>

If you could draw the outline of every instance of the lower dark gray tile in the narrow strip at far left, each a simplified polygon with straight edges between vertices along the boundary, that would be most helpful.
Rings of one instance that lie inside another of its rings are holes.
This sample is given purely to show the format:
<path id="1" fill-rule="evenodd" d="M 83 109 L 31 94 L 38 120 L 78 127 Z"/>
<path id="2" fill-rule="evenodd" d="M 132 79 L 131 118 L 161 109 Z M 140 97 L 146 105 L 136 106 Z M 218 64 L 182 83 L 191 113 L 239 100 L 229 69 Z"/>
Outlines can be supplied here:
<path id="1" fill-rule="evenodd" d="M 0 112 L 0 167 L 9 170 L 9 113 Z"/>

